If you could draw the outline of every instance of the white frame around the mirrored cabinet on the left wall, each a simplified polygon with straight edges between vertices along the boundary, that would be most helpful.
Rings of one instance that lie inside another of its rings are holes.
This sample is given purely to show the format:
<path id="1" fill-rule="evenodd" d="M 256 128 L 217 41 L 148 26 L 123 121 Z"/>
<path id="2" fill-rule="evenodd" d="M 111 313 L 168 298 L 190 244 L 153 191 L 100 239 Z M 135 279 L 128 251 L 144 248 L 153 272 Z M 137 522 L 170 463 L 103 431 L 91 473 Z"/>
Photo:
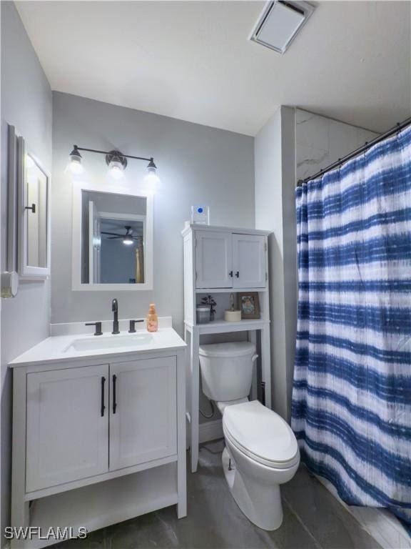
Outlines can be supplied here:
<path id="1" fill-rule="evenodd" d="M 50 250 L 51 250 L 51 225 L 50 225 L 50 174 L 44 169 L 39 160 L 28 152 L 33 162 L 36 163 L 37 167 L 41 169 L 41 172 L 47 177 L 47 212 L 46 212 L 46 234 L 47 234 L 47 245 L 46 245 L 46 265 L 47 267 L 33 267 L 26 262 L 27 257 L 27 189 L 26 184 L 24 184 L 24 163 L 26 161 L 26 148 L 24 144 L 23 137 L 19 136 L 17 139 L 17 150 L 19 155 L 18 167 L 17 167 L 17 181 L 18 181 L 18 269 L 19 275 L 22 279 L 26 280 L 45 280 L 49 277 L 50 274 Z"/>

